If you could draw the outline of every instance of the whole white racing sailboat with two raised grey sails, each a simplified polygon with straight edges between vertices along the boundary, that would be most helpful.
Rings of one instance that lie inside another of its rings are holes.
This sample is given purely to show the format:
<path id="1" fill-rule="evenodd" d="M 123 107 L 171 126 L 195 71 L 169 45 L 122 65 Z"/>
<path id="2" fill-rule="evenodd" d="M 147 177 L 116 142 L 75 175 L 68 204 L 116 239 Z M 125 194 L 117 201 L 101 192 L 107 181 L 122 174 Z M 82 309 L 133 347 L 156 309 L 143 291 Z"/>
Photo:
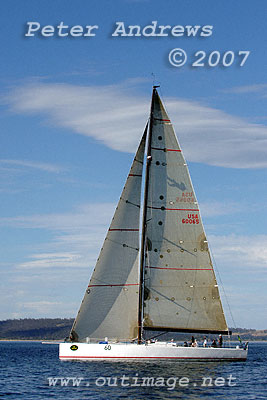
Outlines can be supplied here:
<path id="1" fill-rule="evenodd" d="M 188 167 L 157 88 L 70 337 L 60 343 L 61 360 L 247 358 L 247 346 L 144 339 L 229 335 Z"/>

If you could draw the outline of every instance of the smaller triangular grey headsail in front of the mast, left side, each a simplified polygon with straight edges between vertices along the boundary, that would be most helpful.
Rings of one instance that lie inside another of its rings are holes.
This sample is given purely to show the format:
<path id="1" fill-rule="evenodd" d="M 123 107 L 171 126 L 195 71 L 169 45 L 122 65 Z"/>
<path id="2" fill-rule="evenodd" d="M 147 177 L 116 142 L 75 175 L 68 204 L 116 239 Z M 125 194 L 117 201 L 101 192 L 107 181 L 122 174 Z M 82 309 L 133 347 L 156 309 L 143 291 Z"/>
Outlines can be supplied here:
<path id="1" fill-rule="evenodd" d="M 144 132 L 89 286 L 74 322 L 75 341 L 137 336 L 139 218 Z"/>

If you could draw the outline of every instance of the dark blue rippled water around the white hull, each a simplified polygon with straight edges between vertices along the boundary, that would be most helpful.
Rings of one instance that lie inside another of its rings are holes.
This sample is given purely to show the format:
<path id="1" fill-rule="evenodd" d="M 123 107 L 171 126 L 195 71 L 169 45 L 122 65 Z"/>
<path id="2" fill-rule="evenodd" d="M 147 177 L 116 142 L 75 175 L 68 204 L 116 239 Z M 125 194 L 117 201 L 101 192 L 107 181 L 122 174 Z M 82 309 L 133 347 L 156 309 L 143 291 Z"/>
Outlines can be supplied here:
<path id="1" fill-rule="evenodd" d="M 267 398 L 267 343 L 251 343 L 247 362 L 235 363 L 59 361 L 57 345 L 34 342 L 0 342 L 0 354 L 0 397 L 10 400 Z M 50 386 L 56 377 L 71 379 Z"/>

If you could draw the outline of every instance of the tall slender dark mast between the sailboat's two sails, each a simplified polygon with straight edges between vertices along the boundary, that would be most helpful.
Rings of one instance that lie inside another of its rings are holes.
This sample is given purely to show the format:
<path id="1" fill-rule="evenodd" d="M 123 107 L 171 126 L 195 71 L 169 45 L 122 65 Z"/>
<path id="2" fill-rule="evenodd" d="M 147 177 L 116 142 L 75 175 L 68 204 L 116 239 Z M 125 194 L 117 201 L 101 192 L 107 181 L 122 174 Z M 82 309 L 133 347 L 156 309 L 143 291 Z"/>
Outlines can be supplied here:
<path id="1" fill-rule="evenodd" d="M 142 235 L 141 235 L 141 249 L 140 249 L 140 278 L 139 278 L 139 304 L 138 304 L 138 337 L 137 343 L 142 343 L 142 311 L 143 311 L 143 296 L 144 296 L 144 263 L 145 263 L 145 237 L 146 237 L 146 220 L 147 220 L 147 199 L 148 199 L 148 183 L 149 183 L 149 169 L 151 165 L 151 138 L 153 129 L 153 111 L 154 111 L 154 96 L 156 89 L 159 86 L 153 86 L 151 108 L 150 108 L 150 123 L 147 137 L 147 159 L 146 159 L 146 177 L 144 187 L 144 201 L 143 201 L 143 220 L 142 220 Z"/>

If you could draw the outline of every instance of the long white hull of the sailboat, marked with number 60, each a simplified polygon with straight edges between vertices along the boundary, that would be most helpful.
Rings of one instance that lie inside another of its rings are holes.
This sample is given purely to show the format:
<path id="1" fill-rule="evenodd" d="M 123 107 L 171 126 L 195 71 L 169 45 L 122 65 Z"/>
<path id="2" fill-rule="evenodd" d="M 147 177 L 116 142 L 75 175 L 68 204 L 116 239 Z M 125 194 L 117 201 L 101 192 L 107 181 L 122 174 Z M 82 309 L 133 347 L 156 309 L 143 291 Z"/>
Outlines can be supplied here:
<path id="1" fill-rule="evenodd" d="M 132 343 L 60 343 L 59 358 L 60 360 L 88 361 L 245 361 L 247 349 L 182 347 L 165 342 L 141 345 Z"/>

